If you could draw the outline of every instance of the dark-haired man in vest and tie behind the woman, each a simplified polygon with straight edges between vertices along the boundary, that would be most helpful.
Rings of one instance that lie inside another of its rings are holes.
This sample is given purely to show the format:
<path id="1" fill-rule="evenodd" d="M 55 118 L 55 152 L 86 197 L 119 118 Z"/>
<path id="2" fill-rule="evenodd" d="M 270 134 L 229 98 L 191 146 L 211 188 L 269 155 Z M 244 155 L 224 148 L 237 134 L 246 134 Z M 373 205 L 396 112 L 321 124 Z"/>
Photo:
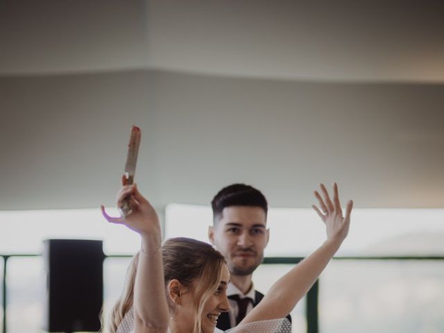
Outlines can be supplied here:
<path id="1" fill-rule="evenodd" d="M 213 225 L 208 237 L 225 257 L 231 278 L 227 289 L 230 311 L 219 316 L 217 327 L 228 330 L 264 297 L 254 288 L 253 272 L 264 259 L 270 236 L 266 228 L 268 204 L 254 187 L 233 184 L 214 196 L 212 210 Z M 291 321 L 290 316 L 287 318 Z"/>

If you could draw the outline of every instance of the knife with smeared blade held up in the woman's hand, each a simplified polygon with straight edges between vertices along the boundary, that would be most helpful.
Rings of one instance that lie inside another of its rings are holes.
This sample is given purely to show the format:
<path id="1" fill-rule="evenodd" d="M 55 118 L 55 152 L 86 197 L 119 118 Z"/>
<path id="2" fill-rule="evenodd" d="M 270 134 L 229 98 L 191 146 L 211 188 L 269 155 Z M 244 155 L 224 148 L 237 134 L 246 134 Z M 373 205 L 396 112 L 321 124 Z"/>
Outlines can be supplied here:
<path id="1" fill-rule="evenodd" d="M 134 182 L 134 176 L 137 164 L 137 155 L 139 154 L 140 139 L 142 132 L 137 126 L 131 128 L 130 143 L 128 144 L 128 155 L 126 155 L 125 177 L 127 184 L 131 185 Z M 130 198 L 126 197 L 122 200 L 122 205 L 119 207 L 120 213 L 123 217 L 130 214 L 133 210 L 130 205 Z"/>

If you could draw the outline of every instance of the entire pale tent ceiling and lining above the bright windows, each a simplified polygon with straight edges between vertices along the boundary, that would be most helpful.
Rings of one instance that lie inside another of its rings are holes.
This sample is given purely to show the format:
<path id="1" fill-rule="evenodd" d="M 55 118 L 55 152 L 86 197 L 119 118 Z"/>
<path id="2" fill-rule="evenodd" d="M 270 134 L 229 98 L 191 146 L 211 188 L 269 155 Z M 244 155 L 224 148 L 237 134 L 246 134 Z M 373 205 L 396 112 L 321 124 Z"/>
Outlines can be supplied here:
<path id="1" fill-rule="evenodd" d="M 0 210 L 112 205 L 133 124 L 155 205 L 443 207 L 443 6 L 243 3 L 3 1 Z"/>

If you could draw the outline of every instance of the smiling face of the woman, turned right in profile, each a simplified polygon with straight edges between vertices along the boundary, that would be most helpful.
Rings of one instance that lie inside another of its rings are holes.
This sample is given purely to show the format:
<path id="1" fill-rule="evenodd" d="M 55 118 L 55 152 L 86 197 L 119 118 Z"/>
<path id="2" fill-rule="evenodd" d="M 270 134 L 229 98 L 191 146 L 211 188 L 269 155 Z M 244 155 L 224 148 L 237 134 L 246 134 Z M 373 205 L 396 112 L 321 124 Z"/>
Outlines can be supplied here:
<path id="1" fill-rule="evenodd" d="M 230 272 L 227 265 L 223 264 L 219 287 L 203 307 L 202 330 L 204 333 L 213 333 L 221 312 L 230 310 L 230 303 L 227 298 L 228 282 L 230 282 Z"/>

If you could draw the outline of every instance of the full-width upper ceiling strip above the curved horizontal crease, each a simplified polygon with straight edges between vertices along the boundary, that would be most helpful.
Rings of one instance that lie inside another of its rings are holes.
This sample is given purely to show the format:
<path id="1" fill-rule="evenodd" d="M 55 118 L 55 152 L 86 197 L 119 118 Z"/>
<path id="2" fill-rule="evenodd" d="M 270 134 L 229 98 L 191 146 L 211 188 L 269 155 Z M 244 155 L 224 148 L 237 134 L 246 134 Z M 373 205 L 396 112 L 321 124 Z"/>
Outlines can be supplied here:
<path id="1" fill-rule="evenodd" d="M 0 74 L 444 81 L 443 1 L 7 0 Z"/>

